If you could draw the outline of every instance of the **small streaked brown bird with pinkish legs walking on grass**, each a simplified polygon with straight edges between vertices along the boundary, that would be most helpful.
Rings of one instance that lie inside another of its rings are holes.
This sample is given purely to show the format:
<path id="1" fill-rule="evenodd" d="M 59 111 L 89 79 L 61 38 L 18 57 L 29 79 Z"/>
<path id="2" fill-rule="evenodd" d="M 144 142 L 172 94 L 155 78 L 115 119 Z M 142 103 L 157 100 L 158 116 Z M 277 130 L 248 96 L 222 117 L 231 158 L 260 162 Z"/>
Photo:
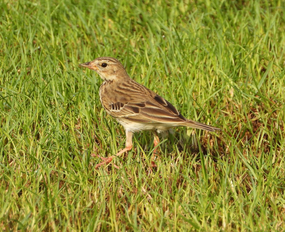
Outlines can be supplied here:
<path id="1" fill-rule="evenodd" d="M 159 143 L 157 132 L 172 127 L 189 126 L 207 131 L 220 130 L 184 118 L 170 102 L 131 79 L 121 62 L 115 58 L 99 57 L 80 65 L 95 70 L 104 80 L 99 89 L 100 101 L 107 113 L 124 127 L 127 137 L 125 149 L 116 155 L 101 157 L 104 161 L 95 168 L 108 164 L 113 157 L 130 151 L 133 147 L 133 132 L 153 131 L 154 146 L 157 146 Z M 156 148 L 153 153 L 156 153 Z M 152 167 L 157 167 L 154 161 L 151 164 Z"/>

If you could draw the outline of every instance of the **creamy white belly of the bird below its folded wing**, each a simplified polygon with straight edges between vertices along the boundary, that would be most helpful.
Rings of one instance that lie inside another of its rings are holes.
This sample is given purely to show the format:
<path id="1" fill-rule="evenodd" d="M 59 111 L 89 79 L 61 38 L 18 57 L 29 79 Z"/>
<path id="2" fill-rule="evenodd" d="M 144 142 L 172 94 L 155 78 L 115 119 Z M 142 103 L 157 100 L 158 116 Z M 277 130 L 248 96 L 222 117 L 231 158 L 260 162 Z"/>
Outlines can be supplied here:
<path id="1" fill-rule="evenodd" d="M 165 123 L 148 123 L 148 122 L 133 122 L 129 120 L 124 120 L 122 118 L 116 118 L 116 120 L 121 124 L 126 131 L 139 132 L 142 130 L 156 130 L 157 132 L 166 131 L 172 127 L 179 126 L 178 124 L 165 124 Z"/>

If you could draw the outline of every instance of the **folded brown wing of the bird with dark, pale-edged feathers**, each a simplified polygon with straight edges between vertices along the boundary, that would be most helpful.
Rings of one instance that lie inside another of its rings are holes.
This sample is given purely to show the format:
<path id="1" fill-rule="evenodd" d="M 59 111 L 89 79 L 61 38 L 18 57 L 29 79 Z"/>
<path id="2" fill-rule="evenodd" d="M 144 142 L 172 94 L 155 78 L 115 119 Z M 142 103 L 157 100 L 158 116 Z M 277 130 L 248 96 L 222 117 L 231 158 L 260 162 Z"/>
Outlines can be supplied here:
<path id="1" fill-rule="evenodd" d="M 187 122 L 170 102 L 157 94 L 139 101 L 121 98 L 120 101 L 111 102 L 108 111 L 113 117 L 135 122 L 168 124 Z"/>

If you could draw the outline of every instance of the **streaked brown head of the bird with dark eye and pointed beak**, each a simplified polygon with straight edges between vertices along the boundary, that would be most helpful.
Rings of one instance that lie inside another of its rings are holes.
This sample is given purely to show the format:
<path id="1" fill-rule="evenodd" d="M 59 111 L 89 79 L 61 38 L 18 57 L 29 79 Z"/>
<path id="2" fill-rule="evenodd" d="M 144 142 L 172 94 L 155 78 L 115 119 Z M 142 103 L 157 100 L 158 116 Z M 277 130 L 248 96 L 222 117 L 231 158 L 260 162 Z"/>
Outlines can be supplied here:
<path id="1" fill-rule="evenodd" d="M 116 81 L 129 77 L 121 62 L 112 57 L 99 57 L 79 65 L 95 70 L 105 81 Z"/>

